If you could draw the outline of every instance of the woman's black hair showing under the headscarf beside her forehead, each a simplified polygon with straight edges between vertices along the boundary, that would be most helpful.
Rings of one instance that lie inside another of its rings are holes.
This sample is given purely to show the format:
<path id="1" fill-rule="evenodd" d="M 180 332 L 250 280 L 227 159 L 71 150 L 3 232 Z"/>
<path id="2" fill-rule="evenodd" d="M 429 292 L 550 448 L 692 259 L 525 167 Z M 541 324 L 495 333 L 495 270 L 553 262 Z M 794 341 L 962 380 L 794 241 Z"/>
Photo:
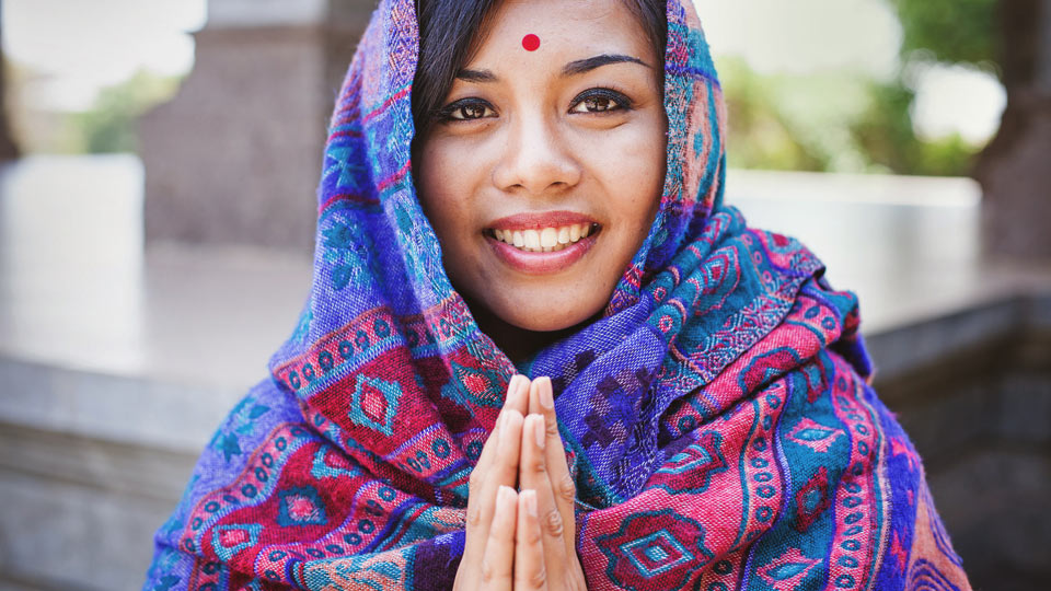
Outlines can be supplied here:
<path id="1" fill-rule="evenodd" d="M 668 36 L 667 0 L 622 0 L 638 19 L 661 63 Z M 416 137 L 430 126 L 455 80 L 481 39 L 485 19 L 498 0 L 418 0 L 419 58 L 413 81 L 413 120 Z"/>

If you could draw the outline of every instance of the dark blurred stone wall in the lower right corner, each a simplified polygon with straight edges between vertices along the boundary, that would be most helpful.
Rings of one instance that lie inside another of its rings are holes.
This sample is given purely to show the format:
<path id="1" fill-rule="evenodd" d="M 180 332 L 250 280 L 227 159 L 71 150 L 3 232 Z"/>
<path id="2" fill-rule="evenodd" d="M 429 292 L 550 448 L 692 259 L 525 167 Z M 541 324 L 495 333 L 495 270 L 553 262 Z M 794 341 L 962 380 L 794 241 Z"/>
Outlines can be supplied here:
<path id="1" fill-rule="evenodd" d="M 869 345 L 876 390 L 923 459 L 971 586 L 1046 589 L 1051 296 L 974 305 Z"/>

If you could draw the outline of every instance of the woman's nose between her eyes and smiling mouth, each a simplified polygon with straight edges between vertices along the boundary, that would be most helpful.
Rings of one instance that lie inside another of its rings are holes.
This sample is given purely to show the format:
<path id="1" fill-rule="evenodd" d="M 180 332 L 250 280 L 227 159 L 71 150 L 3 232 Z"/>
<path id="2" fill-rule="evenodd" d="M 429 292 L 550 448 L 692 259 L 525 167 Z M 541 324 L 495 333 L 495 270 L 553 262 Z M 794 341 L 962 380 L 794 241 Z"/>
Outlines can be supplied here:
<path id="1" fill-rule="evenodd" d="M 508 124 L 507 143 L 493 182 L 507 192 L 557 193 L 580 182 L 580 165 L 556 121 L 542 115 Z"/>

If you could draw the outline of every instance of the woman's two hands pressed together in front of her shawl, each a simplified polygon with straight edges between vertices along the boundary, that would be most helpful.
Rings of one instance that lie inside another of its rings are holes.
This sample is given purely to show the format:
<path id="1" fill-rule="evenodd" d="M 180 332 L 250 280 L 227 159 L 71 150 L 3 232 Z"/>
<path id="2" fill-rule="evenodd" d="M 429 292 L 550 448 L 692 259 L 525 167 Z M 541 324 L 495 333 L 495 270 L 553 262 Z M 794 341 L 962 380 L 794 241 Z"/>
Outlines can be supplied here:
<path id="1" fill-rule="evenodd" d="M 551 380 L 516 375 L 471 474 L 454 589 L 587 589 L 575 547 L 575 493 Z"/>

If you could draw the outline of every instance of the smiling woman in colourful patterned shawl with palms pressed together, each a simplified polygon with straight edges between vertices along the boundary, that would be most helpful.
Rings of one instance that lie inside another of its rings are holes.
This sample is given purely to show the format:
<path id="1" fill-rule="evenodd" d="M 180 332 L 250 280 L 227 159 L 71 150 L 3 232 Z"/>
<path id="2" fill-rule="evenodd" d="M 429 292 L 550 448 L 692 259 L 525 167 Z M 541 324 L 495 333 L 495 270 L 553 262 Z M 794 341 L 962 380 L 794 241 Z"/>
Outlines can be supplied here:
<path id="1" fill-rule="evenodd" d="M 688 0 L 384 0 L 314 285 L 146 589 L 968 589 Z"/>

